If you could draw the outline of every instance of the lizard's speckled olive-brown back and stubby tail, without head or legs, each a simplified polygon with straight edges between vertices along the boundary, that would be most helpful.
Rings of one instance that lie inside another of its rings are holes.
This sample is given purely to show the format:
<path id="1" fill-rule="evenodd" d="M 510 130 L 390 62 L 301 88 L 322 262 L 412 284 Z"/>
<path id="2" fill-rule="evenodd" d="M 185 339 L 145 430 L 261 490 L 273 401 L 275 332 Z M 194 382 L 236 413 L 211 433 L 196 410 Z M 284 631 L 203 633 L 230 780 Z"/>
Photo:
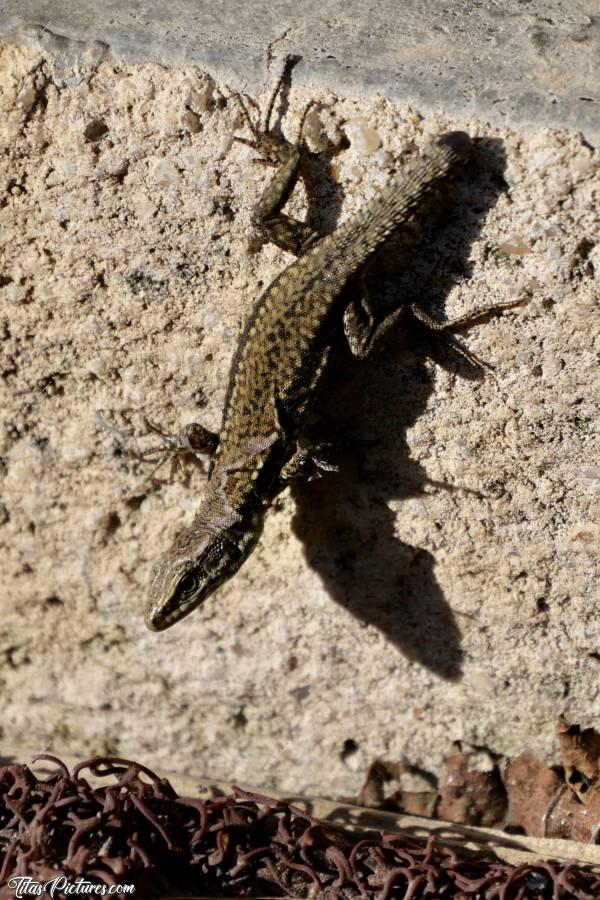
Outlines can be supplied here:
<path id="1" fill-rule="evenodd" d="M 343 289 L 373 252 L 410 219 L 470 148 L 445 135 L 406 165 L 356 215 L 284 269 L 257 300 L 234 356 L 210 476 L 228 467 L 228 496 L 248 479 L 267 488 L 294 450 L 342 320 Z M 232 468 L 233 467 L 233 468 Z M 266 470 L 268 471 L 266 471 Z M 261 485 L 262 479 L 262 485 Z"/>

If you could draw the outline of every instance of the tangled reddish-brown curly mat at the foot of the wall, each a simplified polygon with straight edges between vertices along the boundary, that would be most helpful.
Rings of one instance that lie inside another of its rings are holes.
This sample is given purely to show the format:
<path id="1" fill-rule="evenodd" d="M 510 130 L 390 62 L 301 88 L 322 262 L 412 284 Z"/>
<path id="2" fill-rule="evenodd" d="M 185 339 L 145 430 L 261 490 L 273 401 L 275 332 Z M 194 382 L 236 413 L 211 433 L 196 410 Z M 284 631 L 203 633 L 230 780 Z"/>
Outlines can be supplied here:
<path id="1" fill-rule="evenodd" d="M 94 757 L 41 777 L 0 768 L 0 896 L 12 876 L 136 885 L 136 896 L 320 900 L 591 900 L 600 876 L 575 861 L 509 865 L 433 837 L 357 834 L 234 788 L 180 797 L 140 763 Z M 111 778 L 93 787 L 82 773 Z M 152 888 L 152 889 L 151 889 Z M 62 896 L 57 894 L 56 896 Z M 113 894 L 113 896 L 115 896 Z M 123 895 L 124 896 L 124 895 Z"/>

